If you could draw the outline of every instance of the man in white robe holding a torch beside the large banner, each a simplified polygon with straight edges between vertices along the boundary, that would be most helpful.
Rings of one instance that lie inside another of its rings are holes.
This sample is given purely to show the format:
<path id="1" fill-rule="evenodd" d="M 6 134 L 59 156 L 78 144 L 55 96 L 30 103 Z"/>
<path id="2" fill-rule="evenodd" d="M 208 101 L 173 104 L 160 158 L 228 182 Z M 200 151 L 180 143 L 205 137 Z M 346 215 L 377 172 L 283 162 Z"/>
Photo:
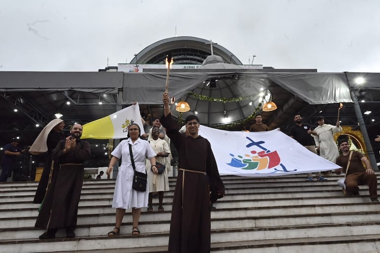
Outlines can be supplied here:
<path id="1" fill-rule="evenodd" d="M 322 116 L 317 117 L 318 125 L 312 132 L 315 146 L 319 149 L 319 155 L 335 163 L 339 156 L 338 146 L 334 141 L 334 134 L 342 132 L 340 122 L 337 121 L 335 126 L 325 124 L 325 119 Z"/>

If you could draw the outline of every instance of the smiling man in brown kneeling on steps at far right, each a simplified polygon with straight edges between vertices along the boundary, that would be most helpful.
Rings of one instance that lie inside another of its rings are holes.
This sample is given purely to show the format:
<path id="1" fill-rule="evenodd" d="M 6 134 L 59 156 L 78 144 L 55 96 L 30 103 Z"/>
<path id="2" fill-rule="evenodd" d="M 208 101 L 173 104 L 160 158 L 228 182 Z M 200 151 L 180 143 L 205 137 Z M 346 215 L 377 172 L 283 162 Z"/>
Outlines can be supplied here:
<path id="1" fill-rule="evenodd" d="M 346 140 L 339 141 L 339 149 L 342 154 L 338 156 L 336 164 L 342 166 L 342 169 L 335 170 L 337 175 L 345 172 L 349 160 L 349 154 L 352 152 L 351 161 L 348 166 L 347 174 L 345 175 L 346 196 L 352 197 L 359 194 L 358 185 L 368 185 L 370 191 L 370 198 L 372 202 L 379 202 L 378 200 L 378 180 L 375 171 L 371 167 L 370 161 L 358 151 L 350 151 L 350 146 Z M 364 168 L 363 163 L 367 169 Z"/>

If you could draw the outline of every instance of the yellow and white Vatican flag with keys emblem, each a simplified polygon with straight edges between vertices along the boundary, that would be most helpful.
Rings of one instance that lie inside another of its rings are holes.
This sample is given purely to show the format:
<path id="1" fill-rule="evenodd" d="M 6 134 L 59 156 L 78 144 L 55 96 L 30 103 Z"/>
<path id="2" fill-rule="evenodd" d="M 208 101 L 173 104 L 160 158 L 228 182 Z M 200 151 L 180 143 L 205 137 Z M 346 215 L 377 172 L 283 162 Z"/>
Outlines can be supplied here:
<path id="1" fill-rule="evenodd" d="M 106 117 L 91 121 L 83 125 L 81 139 L 122 139 L 127 138 L 128 126 L 138 124 L 141 134 L 144 127 L 141 121 L 139 104 L 121 109 Z"/>

